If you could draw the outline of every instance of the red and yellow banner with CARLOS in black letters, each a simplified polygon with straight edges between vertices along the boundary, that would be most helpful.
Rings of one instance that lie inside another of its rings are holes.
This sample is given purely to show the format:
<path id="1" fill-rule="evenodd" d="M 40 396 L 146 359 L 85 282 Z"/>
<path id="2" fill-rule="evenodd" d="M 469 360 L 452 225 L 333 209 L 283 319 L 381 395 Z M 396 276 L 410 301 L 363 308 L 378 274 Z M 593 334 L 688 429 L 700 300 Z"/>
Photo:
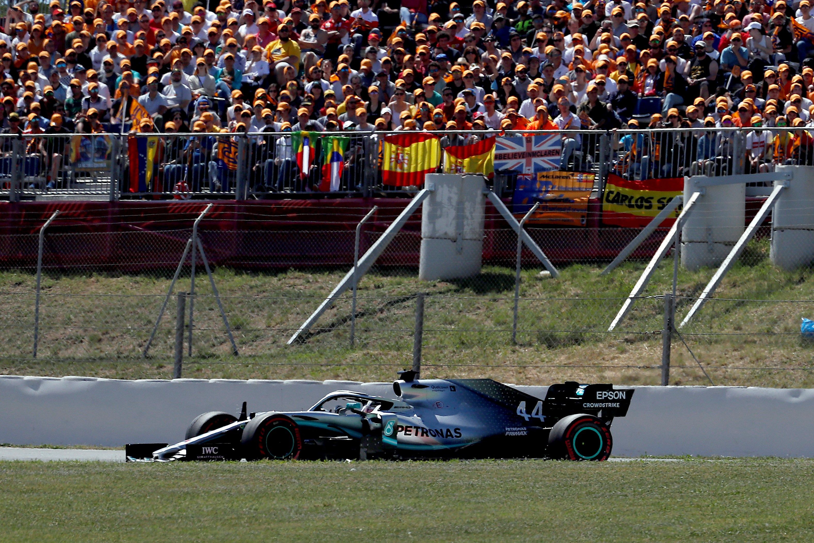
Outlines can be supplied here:
<path id="1" fill-rule="evenodd" d="M 624 179 L 614 173 L 608 175 L 605 195 L 602 196 L 602 222 L 606 225 L 643 228 L 667 207 L 670 200 L 684 193 L 684 178 Z M 672 226 L 681 213 L 678 206 L 662 226 Z"/>

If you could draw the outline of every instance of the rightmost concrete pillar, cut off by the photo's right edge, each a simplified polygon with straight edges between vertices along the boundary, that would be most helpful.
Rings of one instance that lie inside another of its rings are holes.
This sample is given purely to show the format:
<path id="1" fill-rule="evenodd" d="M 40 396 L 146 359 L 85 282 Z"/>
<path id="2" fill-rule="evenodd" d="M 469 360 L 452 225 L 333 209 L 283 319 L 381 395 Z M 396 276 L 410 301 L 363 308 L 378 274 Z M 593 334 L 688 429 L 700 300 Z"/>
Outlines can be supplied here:
<path id="1" fill-rule="evenodd" d="M 772 209 L 772 264 L 786 270 L 814 260 L 814 167 L 777 166 L 791 180 Z M 777 182 L 776 182 L 777 183 Z"/>

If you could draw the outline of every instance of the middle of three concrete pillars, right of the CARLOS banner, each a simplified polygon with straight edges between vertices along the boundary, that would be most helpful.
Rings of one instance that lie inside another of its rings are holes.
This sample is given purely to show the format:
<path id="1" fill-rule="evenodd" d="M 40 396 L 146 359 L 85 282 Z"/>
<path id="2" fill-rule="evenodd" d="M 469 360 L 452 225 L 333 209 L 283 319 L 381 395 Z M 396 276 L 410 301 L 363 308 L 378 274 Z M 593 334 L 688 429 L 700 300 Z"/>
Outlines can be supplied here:
<path id="1" fill-rule="evenodd" d="M 681 228 L 681 264 L 686 269 L 719 266 L 746 230 L 746 183 L 700 187 L 684 178 L 684 201 L 706 190 Z"/>

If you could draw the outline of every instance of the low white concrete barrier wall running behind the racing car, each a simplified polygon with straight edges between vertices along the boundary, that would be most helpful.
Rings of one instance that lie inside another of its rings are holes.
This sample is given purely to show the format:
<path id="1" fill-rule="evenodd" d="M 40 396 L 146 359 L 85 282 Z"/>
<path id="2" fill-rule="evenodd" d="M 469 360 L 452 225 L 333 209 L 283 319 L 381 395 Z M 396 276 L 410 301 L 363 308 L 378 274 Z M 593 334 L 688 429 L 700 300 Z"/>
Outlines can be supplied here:
<path id="1" fill-rule="evenodd" d="M 518 386 L 538 397 L 546 387 Z M 307 409 L 339 389 L 393 397 L 391 383 L 0 376 L 0 443 L 93 444 L 181 440 L 205 411 Z M 614 456 L 814 458 L 814 390 L 636 387 L 613 424 Z"/>

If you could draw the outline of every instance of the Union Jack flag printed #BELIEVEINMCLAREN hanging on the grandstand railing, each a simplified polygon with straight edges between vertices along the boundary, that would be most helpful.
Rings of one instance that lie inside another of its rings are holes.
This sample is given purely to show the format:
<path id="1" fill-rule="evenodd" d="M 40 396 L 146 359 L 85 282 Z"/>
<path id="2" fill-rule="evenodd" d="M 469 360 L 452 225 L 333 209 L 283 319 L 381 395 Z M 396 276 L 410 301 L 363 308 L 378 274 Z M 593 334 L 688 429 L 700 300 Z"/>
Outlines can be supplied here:
<path id="1" fill-rule="evenodd" d="M 560 167 L 562 137 L 559 134 L 497 138 L 495 170 L 516 170 L 519 176 L 532 177 Z"/>

